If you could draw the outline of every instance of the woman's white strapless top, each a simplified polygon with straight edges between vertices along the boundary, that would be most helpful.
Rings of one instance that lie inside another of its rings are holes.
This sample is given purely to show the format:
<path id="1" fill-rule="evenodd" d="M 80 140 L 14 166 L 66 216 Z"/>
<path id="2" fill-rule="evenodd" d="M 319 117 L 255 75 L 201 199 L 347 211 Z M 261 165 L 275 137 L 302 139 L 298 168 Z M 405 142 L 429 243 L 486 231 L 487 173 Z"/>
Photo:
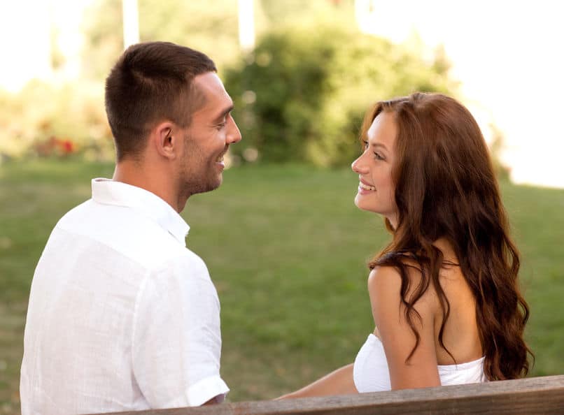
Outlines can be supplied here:
<path id="1" fill-rule="evenodd" d="M 442 386 L 476 384 L 487 381 L 484 358 L 458 365 L 438 365 Z M 368 335 L 355 358 L 353 377 L 360 393 L 391 391 L 388 361 L 381 340 Z"/>

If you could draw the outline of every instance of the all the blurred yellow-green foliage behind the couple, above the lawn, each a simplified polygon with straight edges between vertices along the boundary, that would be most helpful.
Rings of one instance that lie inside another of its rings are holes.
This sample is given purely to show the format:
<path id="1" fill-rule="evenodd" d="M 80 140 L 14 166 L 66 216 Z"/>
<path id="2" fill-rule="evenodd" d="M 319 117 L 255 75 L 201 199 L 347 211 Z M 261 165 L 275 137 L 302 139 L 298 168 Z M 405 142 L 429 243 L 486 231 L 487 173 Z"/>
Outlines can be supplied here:
<path id="1" fill-rule="evenodd" d="M 353 0 L 255 0 L 257 46 L 239 47 L 237 0 L 139 0 L 141 41 L 171 41 L 216 61 L 244 141 L 234 159 L 350 163 L 371 103 L 415 90 L 453 93 L 444 50 L 394 45 L 360 33 Z M 2 94 L 0 154 L 113 157 L 104 78 L 123 49 L 121 0 L 84 15 L 80 80 L 30 82 Z M 52 36 L 56 37 L 53 29 Z M 52 42 L 53 43 L 53 42 Z M 53 66 L 64 67 L 55 50 Z M 250 154 L 250 156 L 249 156 Z"/>

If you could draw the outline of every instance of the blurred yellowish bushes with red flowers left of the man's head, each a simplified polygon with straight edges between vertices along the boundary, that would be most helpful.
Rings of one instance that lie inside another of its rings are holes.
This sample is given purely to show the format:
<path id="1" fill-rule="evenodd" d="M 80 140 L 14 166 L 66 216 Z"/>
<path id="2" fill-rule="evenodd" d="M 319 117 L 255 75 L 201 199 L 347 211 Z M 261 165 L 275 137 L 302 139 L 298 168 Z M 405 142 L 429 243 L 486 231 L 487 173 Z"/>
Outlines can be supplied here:
<path id="1" fill-rule="evenodd" d="M 34 80 L 18 94 L 0 92 L 0 156 L 71 156 L 111 159 L 103 88 Z"/>

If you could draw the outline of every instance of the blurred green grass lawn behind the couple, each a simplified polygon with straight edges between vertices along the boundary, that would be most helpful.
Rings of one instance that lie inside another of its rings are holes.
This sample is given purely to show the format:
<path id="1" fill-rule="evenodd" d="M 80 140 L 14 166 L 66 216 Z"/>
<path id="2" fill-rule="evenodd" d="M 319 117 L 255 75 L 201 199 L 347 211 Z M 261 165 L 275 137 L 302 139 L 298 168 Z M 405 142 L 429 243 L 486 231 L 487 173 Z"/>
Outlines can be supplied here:
<path id="1" fill-rule="evenodd" d="M 19 411 L 29 284 L 59 217 L 113 166 L 34 161 L 0 166 L 0 414 Z M 230 399 L 274 398 L 353 361 L 373 329 L 366 262 L 388 234 L 353 205 L 349 170 L 251 166 L 188 201 L 188 247 L 222 303 L 222 374 Z M 564 191 L 502 184 L 531 307 L 532 375 L 562 374 Z"/>

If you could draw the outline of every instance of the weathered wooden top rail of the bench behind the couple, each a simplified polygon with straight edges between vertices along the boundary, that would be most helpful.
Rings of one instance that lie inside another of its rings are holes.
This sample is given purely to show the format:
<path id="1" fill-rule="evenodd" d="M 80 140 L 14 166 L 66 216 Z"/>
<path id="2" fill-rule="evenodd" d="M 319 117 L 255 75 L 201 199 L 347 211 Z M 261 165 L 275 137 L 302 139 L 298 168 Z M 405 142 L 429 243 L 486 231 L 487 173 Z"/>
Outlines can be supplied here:
<path id="1" fill-rule="evenodd" d="M 564 414 L 564 375 L 326 398 L 234 402 L 114 414 Z"/>

